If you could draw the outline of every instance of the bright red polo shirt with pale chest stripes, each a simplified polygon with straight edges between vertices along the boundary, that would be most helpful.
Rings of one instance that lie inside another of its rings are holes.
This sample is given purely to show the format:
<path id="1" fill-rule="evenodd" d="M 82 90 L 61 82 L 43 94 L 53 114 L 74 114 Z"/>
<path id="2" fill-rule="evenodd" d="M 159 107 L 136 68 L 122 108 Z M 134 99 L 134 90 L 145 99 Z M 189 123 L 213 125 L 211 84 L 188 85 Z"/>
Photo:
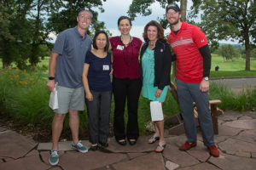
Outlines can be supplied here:
<path id="1" fill-rule="evenodd" d="M 197 26 L 182 22 L 177 35 L 171 31 L 168 41 L 176 54 L 177 79 L 200 83 L 203 77 L 203 58 L 199 48 L 207 45 L 207 37 Z"/>

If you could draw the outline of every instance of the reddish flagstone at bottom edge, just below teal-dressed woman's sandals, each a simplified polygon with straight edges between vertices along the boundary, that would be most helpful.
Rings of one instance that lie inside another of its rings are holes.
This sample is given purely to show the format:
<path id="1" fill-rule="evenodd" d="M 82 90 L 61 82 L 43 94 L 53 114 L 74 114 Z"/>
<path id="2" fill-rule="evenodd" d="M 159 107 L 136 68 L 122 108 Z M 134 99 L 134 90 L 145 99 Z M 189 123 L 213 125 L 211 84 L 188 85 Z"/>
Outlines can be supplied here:
<path id="1" fill-rule="evenodd" d="M 165 170 L 163 156 L 159 153 L 150 153 L 145 156 L 137 157 L 131 161 L 124 161 L 113 165 L 116 170 Z"/>

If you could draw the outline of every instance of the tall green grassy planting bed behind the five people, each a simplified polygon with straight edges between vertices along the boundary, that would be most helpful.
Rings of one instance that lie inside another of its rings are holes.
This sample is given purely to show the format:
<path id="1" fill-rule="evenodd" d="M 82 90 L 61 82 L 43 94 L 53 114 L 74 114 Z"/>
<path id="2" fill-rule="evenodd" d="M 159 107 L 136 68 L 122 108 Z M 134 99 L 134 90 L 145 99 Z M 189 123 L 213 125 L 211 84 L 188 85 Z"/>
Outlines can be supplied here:
<path id="1" fill-rule="evenodd" d="M 42 127 L 50 132 L 54 113 L 49 108 L 49 89 L 45 85 L 46 82 L 47 77 L 41 73 L 28 73 L 18 69 L 0 70 L 0 116 L 11 119 L 20 126 Z M 235 94 L 229 88 L 212 83 L 209 99 L 221 99 L 222 103 L 218 107 L 223 110 L 247 111 L 256 106 L 256 90 L 247 89 L 241 94 Z M 110 121 L 113 124 L 113 99 L 111 108 Z M 177 101 L 169 91 L 163 104 L 163 111 L 166 118 L 180 112 Z M 87 111 L 81 111 L 79 118 L 79 133 L 87 133 Z M 125 108 L 125 122 L 127 122 L 127 108 Z M 149 101 L 141 96 L 138 107 L 141 134 L 148 133 L 149 122 L 151 122 Z M 69 132 L 68 114 L 63 131 Z"/>

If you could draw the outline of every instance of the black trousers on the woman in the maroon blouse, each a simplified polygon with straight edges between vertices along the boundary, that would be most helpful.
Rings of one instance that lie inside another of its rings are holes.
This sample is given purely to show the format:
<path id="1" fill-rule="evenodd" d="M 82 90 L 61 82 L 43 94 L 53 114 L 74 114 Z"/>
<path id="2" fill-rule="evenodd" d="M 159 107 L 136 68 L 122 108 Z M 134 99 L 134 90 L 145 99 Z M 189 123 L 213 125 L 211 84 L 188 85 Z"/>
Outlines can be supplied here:
<path id="1" fill-rule="evenodd" d="M 127 99 L 128 122 L 126 136 L 128 139 L 137 139 L 139 129 L 137 123 L 137 107 L 142 83 L 140 79 L 113 77 L 114 118 L 113 132 L 115 139 L 125 139 L 125 102 Z"/>

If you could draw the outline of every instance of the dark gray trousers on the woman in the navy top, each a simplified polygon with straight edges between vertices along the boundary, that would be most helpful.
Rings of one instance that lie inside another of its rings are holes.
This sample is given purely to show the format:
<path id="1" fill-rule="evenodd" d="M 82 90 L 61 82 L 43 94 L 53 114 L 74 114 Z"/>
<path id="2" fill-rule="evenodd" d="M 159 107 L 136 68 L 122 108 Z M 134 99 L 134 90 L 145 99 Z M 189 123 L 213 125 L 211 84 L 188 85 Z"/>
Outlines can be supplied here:
<path id="1" fill-rule="evenodd" d="M 89 117 L 90 142 L 106 143 L 109 134 L 109 116 L 112 92 L 91 91 L 93 100 L 86 99 Z"/>

